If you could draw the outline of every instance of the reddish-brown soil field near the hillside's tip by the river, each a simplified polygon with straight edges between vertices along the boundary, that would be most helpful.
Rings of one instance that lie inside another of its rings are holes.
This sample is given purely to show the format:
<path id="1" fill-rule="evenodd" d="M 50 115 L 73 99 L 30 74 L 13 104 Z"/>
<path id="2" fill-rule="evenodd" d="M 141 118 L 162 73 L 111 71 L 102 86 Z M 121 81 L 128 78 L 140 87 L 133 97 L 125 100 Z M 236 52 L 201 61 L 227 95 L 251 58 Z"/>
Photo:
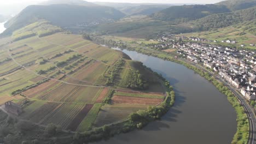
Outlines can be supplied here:
<path id="1" fill-rule="evenodd" d="M 162 99 L 126 97 L 126 96 L 120 96 L 120 95 L 114 95 L 114 97 L 112 98 L 113 104 L 158 105 L 161 102 L 162 102 Z"/>

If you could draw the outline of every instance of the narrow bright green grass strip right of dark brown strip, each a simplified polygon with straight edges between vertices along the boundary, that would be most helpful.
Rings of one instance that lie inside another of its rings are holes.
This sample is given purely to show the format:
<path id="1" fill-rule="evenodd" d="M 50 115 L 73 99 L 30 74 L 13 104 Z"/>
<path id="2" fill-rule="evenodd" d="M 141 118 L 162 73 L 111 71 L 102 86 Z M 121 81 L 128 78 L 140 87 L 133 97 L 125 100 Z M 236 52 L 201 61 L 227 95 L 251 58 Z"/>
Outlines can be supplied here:
<path id="1" fill-rule="evenodd" d="M 94 104 L 88 114 L 85 116 L 83 121 L 80 123 L 78 127 L 78 131 L 86 131 L 92 127 L 92 124 L 95 122 L 97 118 L 98 112 L 101 109 L 102 104 Z"/>

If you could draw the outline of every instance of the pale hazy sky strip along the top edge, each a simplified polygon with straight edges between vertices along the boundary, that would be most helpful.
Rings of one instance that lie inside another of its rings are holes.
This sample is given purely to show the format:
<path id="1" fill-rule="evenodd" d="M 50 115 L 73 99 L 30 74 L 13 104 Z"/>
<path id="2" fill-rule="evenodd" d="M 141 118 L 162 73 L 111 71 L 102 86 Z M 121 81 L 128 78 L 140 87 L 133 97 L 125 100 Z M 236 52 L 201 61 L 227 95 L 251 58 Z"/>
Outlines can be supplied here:
<path id="1" fill-rule="evenodd" d="M 0 0 L 1 4 L 36 4 L 46 0 Z M 222 0 L 88 0 L 88 2 L 127 2 L 127 3 L 217 3 Z"/>

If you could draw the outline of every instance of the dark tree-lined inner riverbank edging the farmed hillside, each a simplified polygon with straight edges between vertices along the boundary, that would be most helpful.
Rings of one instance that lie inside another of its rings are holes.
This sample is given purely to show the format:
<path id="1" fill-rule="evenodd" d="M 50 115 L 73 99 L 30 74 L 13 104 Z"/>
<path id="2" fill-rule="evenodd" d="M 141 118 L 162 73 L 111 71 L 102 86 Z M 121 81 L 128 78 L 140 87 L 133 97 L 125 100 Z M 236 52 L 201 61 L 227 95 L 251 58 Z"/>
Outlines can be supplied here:
<path id="1" fill-rule="evenodd" d="M 168 82 L 158 73 L 154 72 L 154 74 L 165 82 L 166 97 L 161 104 L 157 106 L 149 106 L 147 110 L 140 110 L 135 113 L 131 113 L 126 121 L 104 125 L 101 128 L 95 128 L 91 131 L 85 131 L 84 133 L 77 132 L 73 136 L 73 141 L 75 143 L 85 143 L 107 140 L 109 137 L 113 137 L 114 135 L 118 135 L 120 133 L 128 133 L 129 131 L 135 129 L 142 129 L 150 122 L 159 120 L 162 116 L 164 116 L 170 107 L 174 105 L 175 92 L 173 91 L 173 87 L 170 86 L 170 82 Z"/>

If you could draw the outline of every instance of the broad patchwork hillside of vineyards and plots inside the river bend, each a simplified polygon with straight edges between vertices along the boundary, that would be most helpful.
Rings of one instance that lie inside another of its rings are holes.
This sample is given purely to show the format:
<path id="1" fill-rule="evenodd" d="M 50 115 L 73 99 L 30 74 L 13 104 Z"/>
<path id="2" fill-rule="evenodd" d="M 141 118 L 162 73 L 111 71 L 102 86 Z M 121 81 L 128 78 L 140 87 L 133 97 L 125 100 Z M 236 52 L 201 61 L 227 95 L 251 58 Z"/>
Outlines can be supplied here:
<path id="1" fill-rule="evenodd" d="M 141 63 L 54 26 L 43 33 L 48 25 L 33 23 L 16 31 L 11 43 L 1 41 L 0 104 L 20 104 L 19 118 L 85 131 L 165 99 L 162 81 Z M 131 79 L 141 87 L 129 87 Z"/>

